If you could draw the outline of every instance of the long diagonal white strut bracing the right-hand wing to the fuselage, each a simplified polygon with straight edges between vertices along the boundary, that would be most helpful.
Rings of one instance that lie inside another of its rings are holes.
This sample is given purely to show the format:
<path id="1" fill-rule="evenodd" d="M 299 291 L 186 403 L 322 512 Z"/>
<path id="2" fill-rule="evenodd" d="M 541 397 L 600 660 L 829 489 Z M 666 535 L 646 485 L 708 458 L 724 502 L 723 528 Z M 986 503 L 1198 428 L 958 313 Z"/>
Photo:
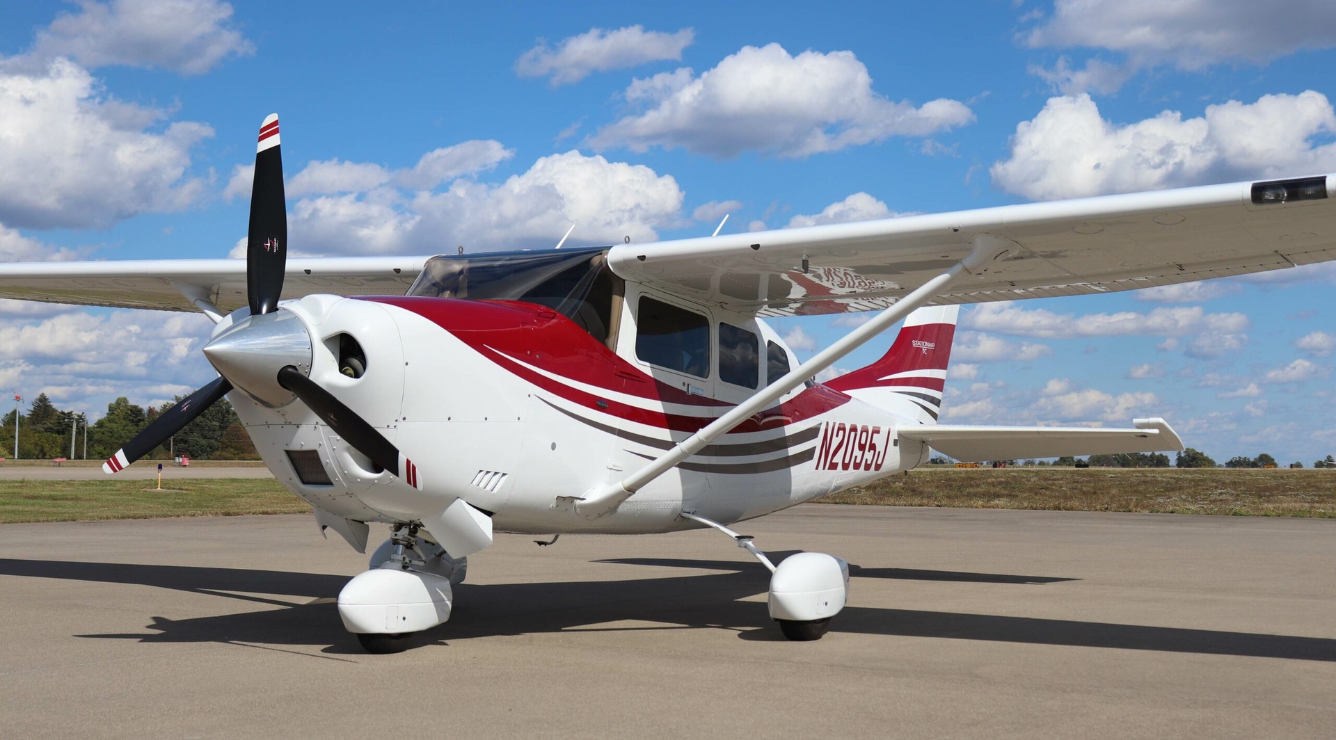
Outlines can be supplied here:
<path id="1" fill-rule="evenodd" d="M 779 401 L 786 393 L 816 377 L 818 373 L 830 367 L 848 353 L 863 346 L 868 339 L 890 329 L 895 322 L 907 317 L 915 309 L 938 297 L 949 285 L 962 275 L 983 275 L 994 260 L 1017 254 L 1021 246 L 1010 239 L 994 234 L 978 234 L 970 239 L 970 254 L 953 264 L 946 272 L 927 281 L 918 290 L 900 298 L 890 309 L 886 309 L 872 321 L 850 331 L 834 345 L 816 353 L 811 359 L 792 369 L 787 375 L 775 381 L 770 386 L 759 390 L 755 395 L 733 406 L 727 414 L 709 422 L 691 437 L 683 439 L 677 446 L 655 458 L 649 465 L 627 476 L 621 482 L 597 486 L 582 497 L 560 497 L 557 505 L 574 504 L 576 513 L 587 518 L 601 517 L 623 501 L 631 498 L 637 490 L 672 470 L 681 461 L 700 451 L 701 447 L 713 442 L 717 437 L 728 433 L 739 423 L 747 421 L 754 414 L 766 410 L 771 403 Z"/>

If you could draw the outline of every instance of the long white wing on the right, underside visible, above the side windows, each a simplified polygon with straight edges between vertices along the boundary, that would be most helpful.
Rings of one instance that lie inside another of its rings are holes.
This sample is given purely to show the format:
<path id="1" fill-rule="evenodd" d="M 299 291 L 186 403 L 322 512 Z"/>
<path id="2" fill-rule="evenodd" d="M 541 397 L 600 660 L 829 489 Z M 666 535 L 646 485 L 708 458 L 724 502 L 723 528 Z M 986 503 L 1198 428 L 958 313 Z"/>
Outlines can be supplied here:
<path id="1" fill-rule="evenodd" d="M 759 315 L 884 309 L 994 234 L 1019 244 L 935 303 L 1081 295 L 1336 259 L 1328 176 L 619 244 L 617 275 Z"/>

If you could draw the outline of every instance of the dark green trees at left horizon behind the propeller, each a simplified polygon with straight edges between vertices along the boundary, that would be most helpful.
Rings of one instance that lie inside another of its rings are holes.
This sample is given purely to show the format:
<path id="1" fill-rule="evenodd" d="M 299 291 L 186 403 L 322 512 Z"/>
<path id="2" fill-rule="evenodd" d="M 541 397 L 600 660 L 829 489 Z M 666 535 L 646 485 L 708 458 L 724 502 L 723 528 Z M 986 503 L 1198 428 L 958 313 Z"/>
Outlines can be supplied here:
<path id="1" fill-rule="evenodd" d="M 90 459 L 106 459 L 122 445 L 139 434 L 148 422 L 179 403 L 172 402 L 147 409 L 120 397 L 107 405 L 107 414 L 87 423 L 87 417 L 75 411 L 56 409 L 45 393 L 39 394 L 27 414 L 19 414 L 19 457 L 24 459 L 69 457 L 73 441 L 73 457 L 84 457 L 84 434 L 87 429 L 87 449 Z M 13 454 L 15 410 L 4 415 L 0 426 L 0 457 Z M 8 451 L 8 454 L 5 454 Z M 195 421 L 186 425 L 171 439 L 146 455 L 150 459 L 171 459 L 174 455 L 187 455 L 192 459 L 259 459 L 255 445 L 242 427 L 236 411 L 226 398 L 204 410 Z"/>

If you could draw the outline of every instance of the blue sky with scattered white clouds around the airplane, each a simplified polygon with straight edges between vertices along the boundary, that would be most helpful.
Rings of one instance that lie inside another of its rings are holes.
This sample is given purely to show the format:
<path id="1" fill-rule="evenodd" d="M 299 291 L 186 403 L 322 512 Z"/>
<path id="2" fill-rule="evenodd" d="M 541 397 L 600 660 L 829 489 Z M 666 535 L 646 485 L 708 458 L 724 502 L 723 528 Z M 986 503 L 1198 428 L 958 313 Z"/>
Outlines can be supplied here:
<path id="1" fill-rule="evenodd" d="M 1336 171 L 1329 3 L 382 5 L 5 7 L 0 260 L 227 255 L 271 111 L 305 254 Z M 1320 266 L 967 310 L 943 421 L 1164 415 L 1217 459 L 1311 465 L 1336 451 L 1333 287 Z M 803 353 L 847 321 L 780 323 Z M 0 386 L 94 415 L 116 395 L 156 403 L 212 377 L 207 330 L 3 302 Z"/>

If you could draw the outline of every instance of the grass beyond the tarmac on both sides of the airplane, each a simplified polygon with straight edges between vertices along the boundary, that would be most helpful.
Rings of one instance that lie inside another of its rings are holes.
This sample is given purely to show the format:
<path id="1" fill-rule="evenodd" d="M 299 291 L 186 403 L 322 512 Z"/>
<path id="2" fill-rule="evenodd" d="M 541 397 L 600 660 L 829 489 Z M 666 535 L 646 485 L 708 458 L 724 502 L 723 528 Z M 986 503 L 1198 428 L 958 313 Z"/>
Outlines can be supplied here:
<path id="1" fill-rule="evenodd" d="M 310 506 L 267 478 L 0 481 L 0 524 L 235 514 Z M 1336 470 L 925 468 L 822 500 L 826 504 L 1066 512 L 1336 517 Z"/>

